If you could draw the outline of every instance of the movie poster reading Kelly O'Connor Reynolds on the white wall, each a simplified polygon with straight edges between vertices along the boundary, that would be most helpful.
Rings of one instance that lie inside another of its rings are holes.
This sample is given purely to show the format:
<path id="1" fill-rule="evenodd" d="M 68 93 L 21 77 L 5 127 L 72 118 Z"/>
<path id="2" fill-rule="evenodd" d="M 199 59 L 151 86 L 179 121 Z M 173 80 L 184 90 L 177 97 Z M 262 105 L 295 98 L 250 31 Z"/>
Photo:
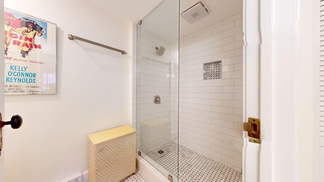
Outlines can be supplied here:
<path id="1" fill-rule="evenodd" d="M 4 9 L 5 95 L 56 94 L 56 24 Z"/>

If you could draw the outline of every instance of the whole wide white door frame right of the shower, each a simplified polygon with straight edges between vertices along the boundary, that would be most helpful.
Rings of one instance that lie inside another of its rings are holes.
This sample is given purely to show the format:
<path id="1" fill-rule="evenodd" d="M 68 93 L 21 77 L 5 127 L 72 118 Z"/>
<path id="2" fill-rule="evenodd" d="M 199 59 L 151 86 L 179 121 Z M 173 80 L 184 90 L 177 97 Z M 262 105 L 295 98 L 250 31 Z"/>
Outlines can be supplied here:
<path id="1" fill-rule="evenodd" d="M 261 144 L 245 142 L 243 181 L 319 181 L 318 5 L 244 0 L 244 119 Z"/>

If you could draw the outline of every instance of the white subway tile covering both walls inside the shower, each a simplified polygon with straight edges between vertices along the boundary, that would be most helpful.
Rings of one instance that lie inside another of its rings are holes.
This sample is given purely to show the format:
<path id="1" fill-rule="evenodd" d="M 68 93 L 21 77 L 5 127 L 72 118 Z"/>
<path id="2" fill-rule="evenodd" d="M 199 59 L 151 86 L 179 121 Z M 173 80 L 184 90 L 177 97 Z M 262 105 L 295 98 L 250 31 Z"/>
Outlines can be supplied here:
<path id="1" fill-rule="evenodd" d="M 176 142 L 179 110 L 179 143 L 240 171 L 241 150 L 232 142 L 242 141 L 242 15 L 181 37 L 180 53 L 178 42 L 167 42 L 143 29 L 137 35 L 138 44 L 133 46 L 140 54 L 133 53 L 133 101 L 137 103 L 133 126 L 136 121 L 138 149 Z M 155 54 L 159 46 L 166 48 L 163 57 Z M 203 64 L 219 60 L 222 79 L 203 80 Z M 161 105 L 153 103 L 155 95 L 161 97 Z"/>

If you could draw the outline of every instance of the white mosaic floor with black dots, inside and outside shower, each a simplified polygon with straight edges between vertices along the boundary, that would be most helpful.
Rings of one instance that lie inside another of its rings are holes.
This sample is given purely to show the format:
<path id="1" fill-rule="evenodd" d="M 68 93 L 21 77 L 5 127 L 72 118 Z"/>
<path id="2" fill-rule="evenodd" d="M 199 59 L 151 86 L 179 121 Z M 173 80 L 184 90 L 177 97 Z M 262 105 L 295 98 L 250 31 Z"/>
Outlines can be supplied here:
<path id="1" fill-rule="evenodd" d="M 176 176 L 178 166 L 178 145 L 169 142 L 147 154 L 156 163 Z M 200 155 L 179 145 L 179 180 L 182 182 L 239 182 L 241 171 L 236 171 L 215 160 Z M 123 181 L 146 181 L 140 173 Z"/>

